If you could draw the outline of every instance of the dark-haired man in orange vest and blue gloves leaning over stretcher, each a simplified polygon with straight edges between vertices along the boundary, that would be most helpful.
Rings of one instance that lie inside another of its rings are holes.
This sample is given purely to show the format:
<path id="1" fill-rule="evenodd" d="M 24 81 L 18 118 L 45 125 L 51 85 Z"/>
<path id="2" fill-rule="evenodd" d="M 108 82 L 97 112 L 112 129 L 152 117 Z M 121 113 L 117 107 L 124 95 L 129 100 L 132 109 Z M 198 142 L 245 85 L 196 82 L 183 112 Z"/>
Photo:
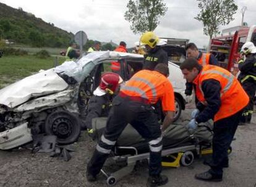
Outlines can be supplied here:
<path id="1" fill-rule="evenodd" d="M 192 112 L 193 118 L 187 127 L 195 130 L 201 122 L 214 121 L 211 169 L 196 174 L 195 178 L 221 181 L 223 167 L 228 167 L 228 148 L 249 97 L 236 77 L 223 68 L 202 66 L 195 58 L 187 58 L 180 68 L 187 82 L 194 84 L 198 99 L 197 109 Z"/>

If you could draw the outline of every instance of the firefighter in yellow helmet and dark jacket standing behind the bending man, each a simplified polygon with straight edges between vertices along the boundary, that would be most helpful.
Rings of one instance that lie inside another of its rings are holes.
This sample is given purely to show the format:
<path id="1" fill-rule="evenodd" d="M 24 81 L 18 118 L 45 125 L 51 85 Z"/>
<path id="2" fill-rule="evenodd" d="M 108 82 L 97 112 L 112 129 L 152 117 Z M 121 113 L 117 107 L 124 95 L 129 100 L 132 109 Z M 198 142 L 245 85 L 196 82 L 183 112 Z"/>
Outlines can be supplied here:
<path id="1" fill-rule="evenodd" d="M 144 55 L 144 70 L 154 70 L 158 63 L 168 65 L 168 54 L 161 48 L 161 40 L 155 33 L 148 31 L 140 37 L 140 46 L 145 46 L 147 54 Z"/>

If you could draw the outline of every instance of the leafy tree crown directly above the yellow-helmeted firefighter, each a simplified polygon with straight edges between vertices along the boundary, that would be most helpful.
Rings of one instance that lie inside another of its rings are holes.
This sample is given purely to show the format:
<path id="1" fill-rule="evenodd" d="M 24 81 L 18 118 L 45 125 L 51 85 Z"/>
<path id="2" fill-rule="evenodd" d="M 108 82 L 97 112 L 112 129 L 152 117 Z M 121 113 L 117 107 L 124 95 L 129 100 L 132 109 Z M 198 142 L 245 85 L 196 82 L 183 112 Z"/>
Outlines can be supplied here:
<path id="1" fill-rule="evenodd" d="M 130 30 L 135 34 L 155 30 L 168 9 L 163 0 L 129 0 L 126 7 L 124 18 L 132 23 Z"/>

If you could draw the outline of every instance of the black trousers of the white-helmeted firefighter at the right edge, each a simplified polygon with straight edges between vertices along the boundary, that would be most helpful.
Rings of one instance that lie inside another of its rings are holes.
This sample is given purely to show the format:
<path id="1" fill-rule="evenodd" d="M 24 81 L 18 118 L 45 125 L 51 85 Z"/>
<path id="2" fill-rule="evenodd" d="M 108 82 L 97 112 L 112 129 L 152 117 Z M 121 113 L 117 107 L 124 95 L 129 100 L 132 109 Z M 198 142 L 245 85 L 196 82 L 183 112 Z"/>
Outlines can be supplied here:
<path id="1" fill-rule="evenodd" d="M 242 83 L 242 87 L 250 98 L 249 104 L 245 107 L 241 122 L 250 123 L 252 119 L 252 114 L 254 113 L 254 96 L 256 91 L 256 82 L 254 80 L 246 80 Z"/>

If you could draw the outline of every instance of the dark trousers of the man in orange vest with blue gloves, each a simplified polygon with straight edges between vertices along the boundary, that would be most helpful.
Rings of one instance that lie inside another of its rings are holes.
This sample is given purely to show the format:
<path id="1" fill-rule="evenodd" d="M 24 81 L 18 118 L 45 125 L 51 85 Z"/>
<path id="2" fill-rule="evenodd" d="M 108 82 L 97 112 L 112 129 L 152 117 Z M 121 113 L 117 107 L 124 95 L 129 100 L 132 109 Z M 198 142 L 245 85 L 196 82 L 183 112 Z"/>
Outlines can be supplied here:
<path id="1" fill-rule="evenodd" d="M 223 165 L 228 164 L 228 148 L 236 133 L 242 110 L 216 121 L 213 126 L 213 159 L 210 172 L 216 175 L 223 174 Z"/>

